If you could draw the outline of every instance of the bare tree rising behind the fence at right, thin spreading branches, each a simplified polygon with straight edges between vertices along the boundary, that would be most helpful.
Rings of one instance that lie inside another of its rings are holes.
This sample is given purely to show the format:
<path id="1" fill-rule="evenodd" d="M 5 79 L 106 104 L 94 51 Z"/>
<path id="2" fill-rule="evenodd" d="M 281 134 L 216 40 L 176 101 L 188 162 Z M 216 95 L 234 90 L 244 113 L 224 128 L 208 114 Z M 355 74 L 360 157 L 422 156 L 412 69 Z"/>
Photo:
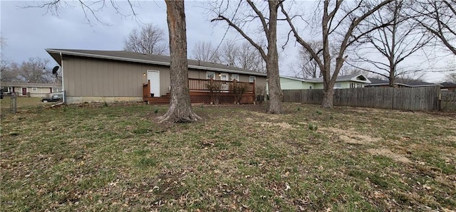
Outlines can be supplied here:
<path id="1" fill-rule="evenodd" d="M 405 68 L 400 68 L 400 64 L 417 51 L 423 50 L 432 39 L 432 36 L 423 36 L 418 24 L 411 21 L 407 15 L 410 10 L 406 3 L 407 1 L 394 1 L 372 14 L 366 20 L 369 22 L 367 24 L 373 27 L 389 24 L 368 34 L 366 45 L 355 51 L 358 56 L 355 60 L 374 65 L 375 70 L 366 70 L 388 78 L 391 87 L 395 85 L 396 76 L 405 74 Z"/>

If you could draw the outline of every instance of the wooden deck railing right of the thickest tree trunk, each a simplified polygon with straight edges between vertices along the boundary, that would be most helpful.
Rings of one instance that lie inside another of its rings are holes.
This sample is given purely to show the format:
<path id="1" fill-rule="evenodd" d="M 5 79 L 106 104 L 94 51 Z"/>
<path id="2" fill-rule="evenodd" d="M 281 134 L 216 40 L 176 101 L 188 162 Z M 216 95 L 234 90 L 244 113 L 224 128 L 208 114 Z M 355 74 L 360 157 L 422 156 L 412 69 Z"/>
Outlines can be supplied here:
<path id="1" fill-rule="evenodd" d="M 253 83 L 244 83 L 236 80 L 188 79 L 190 92 L 234 92 L 234 88 L 239 85 L 245 86 L 245 93 L 255 93 L 255 81 Z"/>

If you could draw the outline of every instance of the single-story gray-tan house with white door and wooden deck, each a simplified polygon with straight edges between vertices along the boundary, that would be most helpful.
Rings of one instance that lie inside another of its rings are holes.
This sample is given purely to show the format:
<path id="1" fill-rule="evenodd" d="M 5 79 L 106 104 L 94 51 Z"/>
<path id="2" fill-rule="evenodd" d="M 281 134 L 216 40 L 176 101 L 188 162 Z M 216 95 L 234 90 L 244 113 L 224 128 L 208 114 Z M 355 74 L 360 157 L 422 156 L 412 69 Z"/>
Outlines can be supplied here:
<path id="1" fill-rule="evenodd" d="M 167 103 L 170 95 L 170 56 L 130 51 L 96 51 L 46 49 L 61 66 L 64 101 L 82 102 L 147 101 Z M 229 65 L 188 60 L 190 98 L 194 103 L 212 102 L 217 95 L 221 102 L 234 102 L 235 83 L 248 86 L 244 102 L 254 101 L 256 86 L 266 86 L 266 73 Z M 234 81 L 235 80 L 235 81 Z M 210 94 L 209 94 L 210 93 Z"/>

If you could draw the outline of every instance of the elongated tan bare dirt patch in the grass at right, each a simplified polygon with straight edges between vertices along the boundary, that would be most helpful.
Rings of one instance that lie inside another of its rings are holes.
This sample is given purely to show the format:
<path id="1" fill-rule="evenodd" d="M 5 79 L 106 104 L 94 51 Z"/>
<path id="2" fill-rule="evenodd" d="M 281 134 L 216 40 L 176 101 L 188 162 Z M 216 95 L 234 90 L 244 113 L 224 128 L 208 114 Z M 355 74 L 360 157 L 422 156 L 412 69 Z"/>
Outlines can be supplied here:
<path id="1" fill-rule="evenodd" d="M 380 142 L 383 140 L 380 137 L 370 137 L 366 134 L 360 134 L 359 132 L 356 132 L 352 129 L 338 129 L 338 128 L 333 128 L 333 127 L 328 127 L 328 128 L 321 128 L 324 131 L 329 131 L 333 132 L 334 134 L 338 134 L 338 138 L 342 142 L 346 142 L 347 144 L 358 144 L 358 145 L 364 145 L 364 144 L 373 144 L 376 142 Z"/>

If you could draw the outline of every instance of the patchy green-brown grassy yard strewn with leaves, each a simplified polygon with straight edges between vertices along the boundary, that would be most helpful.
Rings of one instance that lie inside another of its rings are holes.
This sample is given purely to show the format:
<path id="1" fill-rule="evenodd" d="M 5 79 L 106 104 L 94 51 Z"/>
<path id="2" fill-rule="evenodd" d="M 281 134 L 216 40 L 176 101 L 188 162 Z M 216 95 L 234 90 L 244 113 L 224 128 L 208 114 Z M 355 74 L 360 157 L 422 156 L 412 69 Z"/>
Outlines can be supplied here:
<path id="1" fill-rule="evenodd" d="M 7 101 L 1 211 L 456 210 L 455 113 Z"/>

